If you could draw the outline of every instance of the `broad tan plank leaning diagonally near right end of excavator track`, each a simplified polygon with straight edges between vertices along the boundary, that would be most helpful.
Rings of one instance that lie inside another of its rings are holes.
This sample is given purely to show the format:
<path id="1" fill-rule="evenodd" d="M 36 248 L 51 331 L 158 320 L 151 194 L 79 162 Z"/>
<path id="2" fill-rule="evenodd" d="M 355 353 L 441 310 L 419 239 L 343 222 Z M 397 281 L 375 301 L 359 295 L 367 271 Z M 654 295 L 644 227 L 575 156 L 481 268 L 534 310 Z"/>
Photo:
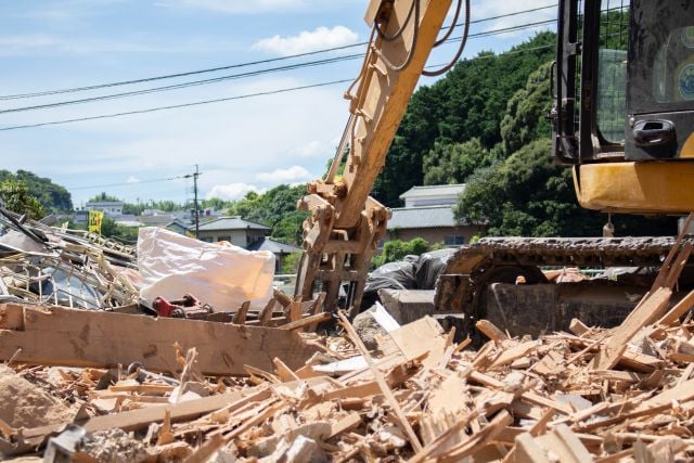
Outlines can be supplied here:
<path id="1" fill-rule="evenodd" d="M 627 344 L 643 326 L 663 317 L 672 290 L 660 287 L 647 294 L 627 319 L 613 329 L 612 336 L 602 344 L 600 351 L 589 363 L 591 370 L 612 370 L 627 350 Z"/>

